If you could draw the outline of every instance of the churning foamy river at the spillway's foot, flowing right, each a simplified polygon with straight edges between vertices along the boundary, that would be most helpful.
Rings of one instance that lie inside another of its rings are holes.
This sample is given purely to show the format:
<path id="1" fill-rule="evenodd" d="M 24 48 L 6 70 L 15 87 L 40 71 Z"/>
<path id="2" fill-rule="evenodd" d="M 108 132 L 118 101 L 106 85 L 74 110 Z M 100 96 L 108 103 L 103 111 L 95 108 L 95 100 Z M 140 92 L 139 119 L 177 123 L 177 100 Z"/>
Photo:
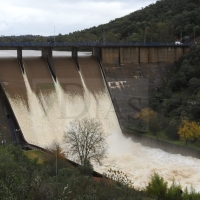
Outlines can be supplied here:
<path id="1" fill-rule="evenodd" d="M 140 143 L 125 138 L 115 132 L 108 138 L 109 152 L 102 166 L 95 166 L 103 173 L 112 167 L 117 167 L 133 182 L 135 188 L 144 189 L 150 176 L 157 172 L 171 185 L 173 178 L 182 188 L 191 185 L 200 191 L 200 160 L 169 154 L 160 149 L 148 148 Z"/>

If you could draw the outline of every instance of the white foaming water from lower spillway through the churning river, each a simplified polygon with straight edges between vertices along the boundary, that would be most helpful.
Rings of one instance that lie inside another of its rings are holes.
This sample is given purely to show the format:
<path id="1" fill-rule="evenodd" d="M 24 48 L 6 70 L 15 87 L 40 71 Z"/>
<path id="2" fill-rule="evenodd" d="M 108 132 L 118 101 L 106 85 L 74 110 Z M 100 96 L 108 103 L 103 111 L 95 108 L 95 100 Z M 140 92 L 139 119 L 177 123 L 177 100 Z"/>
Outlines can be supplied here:
<path id="1" fill-rule="evenodd" d="M 200 191 L 200 160 L 143 147 L 140 143 L 125 138 L 106 88 L 92 94 L 82 73 L 79 74 L 79 79 L 83 95 L 73 92 L 75 86 L 63 86 L 61 79 L 53 83 L 51 92 L 45 93 L 40 88 L 36 94 L 27 76 L 23 75 L 29 107 L 21 98 L 11 98 L 9 91 L 6 91 L 28 142 L 44 148 L 54 140 L 61 143 L 70 121 L 82 117 L 97 118 L 108 134 L 109 149 L 101 166 L 94 163 L 96 171 L 106 172 L 112 166 L 118 167 L 137 188 L 145 187 L 150 175 L 158 172 L 169 182 L 175 178 L 183 187 L 190 187 L 192 184 Z"/>

